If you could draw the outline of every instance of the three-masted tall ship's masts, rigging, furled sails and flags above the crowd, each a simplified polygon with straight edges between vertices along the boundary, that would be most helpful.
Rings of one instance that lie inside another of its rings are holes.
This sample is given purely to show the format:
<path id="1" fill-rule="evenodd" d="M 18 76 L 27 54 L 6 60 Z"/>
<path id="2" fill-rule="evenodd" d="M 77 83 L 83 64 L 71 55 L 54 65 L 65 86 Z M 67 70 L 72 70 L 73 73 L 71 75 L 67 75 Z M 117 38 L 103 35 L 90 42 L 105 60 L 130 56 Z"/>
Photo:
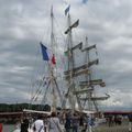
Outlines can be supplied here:
<path id="1" fill-rule="evenodd" d="M 87 36 L 85 42 L 74 43 L 73 31 L 78 28 L 79 19 L 72 22 L 69 9 L 70 6 L 65 10 L 67 29 L 64 34 L 67 47 L 63 55 L 66 66 L 62 66 L 59 64 L 62 61 L 57 59 L 62 53 L 58 50 L 59 46 L 56 46 L 55 16 L 52 7 L 51 41 L 50 43 L 40 43 L 46 73 L 40 77 L 35 92 L 32 92 L 31 102 L 41 97 L 41 105 L 48 103 L 51 111 L 56 111 L 57 107 L 62 110 L 70 109 L 72 111 L 99 111 L 98 101 L 107 100 L 110 96 L 108 94 L 98 96 L 96 92 L 100 87 L 106 87 L 106 82 L 100 78 L 95 78 L 94 75 L 94 69 L 99 64 L 97 45 L 89 45 Z M 59 80 L 58 75 L 62 73 L 63 77 Z"/>

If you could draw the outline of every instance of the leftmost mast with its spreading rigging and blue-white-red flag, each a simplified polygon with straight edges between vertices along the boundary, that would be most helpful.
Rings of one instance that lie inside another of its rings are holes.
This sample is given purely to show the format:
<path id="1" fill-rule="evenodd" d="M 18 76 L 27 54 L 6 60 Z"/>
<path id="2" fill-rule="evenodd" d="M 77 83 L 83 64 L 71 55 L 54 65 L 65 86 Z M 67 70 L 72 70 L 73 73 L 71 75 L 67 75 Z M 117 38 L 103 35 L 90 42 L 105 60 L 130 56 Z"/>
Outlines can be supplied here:
<path id="1" fill-rule="evenodd" d="M 38 86 L 37 89 L 34 91 L 32 91 L 32 97 L 31 97 L 31 105 L 33 101 L 36 101 L 37 98 L 42 97 L 40 95 L 42 95 L 42 87 L 44 89 L 44 94 L 41 100 L 41 105 L 46 105 L 45 102 L 47 101 L 47 103 L 52 103 L 51 105 L 51 111 L 56 111 L 57 105 L 62 106 L 63 102 L 63 97 L 62 97 L 62 92 L 58 88 L 58 84 L 57 84 L 57 75 L 56 75 L 56 70 L 57 70 L 57 66 L 56 66 L 56 58 L 55 58 L 55 53 L 56 53 L 56 40 L 55 40 L 55 33 L 54 33 L 54 13 L 53 13 L 53 7 L 51 8 L 51 42 L 48 45 L 48 48 L 45 46 L 45 44 L 43 44 L 42 42 L 40 42 L 41 48 L 42 48 L 42 56 L 43 56 L 43 61 L 46 63 L 46 72 L 43 75 L 42 79 L 38 79 Z M 48 51 L 50 50 L 50 51 Z M 48 51 L 48 52 L 47 52 Z M 47 76 L 45 76 L 47 74 Z M 33 85 L 35 86 L 35 85 Z M 51 96 L 52 95 L 52 96 Z M 48 96 L 48 100 L 47 97 Z M 59 100 L 58 100 L 59 98 Z M 29 109 L 31 109 L 31 106 L 29 106 Z M 40 107 L 40 110 L 42 110 L 43 108 Z"/>

